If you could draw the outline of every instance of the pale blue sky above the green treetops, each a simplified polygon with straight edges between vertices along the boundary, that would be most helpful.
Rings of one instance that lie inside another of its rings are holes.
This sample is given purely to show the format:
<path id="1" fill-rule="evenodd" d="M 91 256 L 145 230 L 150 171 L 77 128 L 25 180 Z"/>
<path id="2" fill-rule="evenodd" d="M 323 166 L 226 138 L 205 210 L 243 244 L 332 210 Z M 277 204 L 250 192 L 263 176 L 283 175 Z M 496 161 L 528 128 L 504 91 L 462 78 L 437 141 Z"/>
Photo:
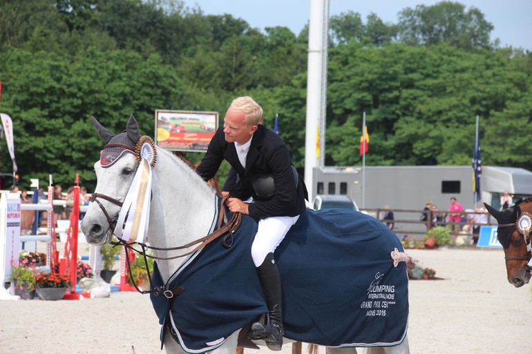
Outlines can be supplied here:
<path id="1" fill-rule="evenodd" d="M 365 19 L 374 12 L 385 23 L 397 23 L 397 14 L 404 8 L 418 5 L 432 6 L 441 0 L 330 0 L 329 14 L 349 10 L 359 12 Z M 500 39 L 500 46 L 532 50 L 531 0 L 456 0 L 466 11 L 478 8 L 486 21 L 491 22 L 491 41 Z M 249 26 L 263 30 L 266 27 L 286 26 L 296 35 L 309 19 L 310 0 L 185 0 L 189 8 L 199 6 L 204 14 L 225 14 L 244 19 Z"/>

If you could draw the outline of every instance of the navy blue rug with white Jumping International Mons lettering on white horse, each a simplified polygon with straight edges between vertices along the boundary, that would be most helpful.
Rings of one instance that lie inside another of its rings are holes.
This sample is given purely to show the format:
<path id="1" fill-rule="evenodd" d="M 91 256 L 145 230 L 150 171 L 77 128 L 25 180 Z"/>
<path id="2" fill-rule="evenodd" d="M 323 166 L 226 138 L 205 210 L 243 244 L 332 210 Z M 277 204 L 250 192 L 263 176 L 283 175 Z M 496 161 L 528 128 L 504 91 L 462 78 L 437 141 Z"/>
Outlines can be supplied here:
<path id="1" fill-rule="evenodd" d="M 189 353 L 211 351 L 267 312 L 251 259 L 257 224 L 243 217 L 234 244 L 211 242 L 169 279 L 181 295 L 151 295 L 160 324 L 171 324 Z M 283 286 L 285 337 L 324 346 L 391 346 L 408 327 L 406 263 L 395 233 L 363 213 L 307 210 L 275 256 Z M 153 286 L 163 285 L 154 271 Z"/>

